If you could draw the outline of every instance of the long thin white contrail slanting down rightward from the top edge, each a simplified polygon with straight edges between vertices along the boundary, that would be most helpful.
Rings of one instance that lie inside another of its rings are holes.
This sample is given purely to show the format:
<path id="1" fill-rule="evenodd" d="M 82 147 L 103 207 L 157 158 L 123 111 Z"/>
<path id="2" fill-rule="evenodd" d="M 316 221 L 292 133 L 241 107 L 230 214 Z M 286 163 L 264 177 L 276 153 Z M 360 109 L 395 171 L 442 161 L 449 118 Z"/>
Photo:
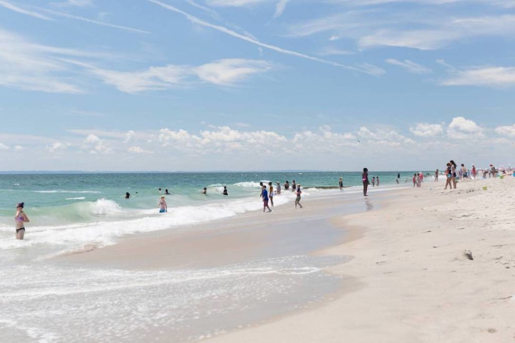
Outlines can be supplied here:
<path id="1" fill-rule="evenodd" d="M 296 57 L 300 57 L 300 58 L 304 58 L 304 59 L 307 59 L 307 60 L 312 60 L 312 61 L 316 61 L 316 62 L 320 62 L 320 63 L 324 63 L 324 64 L 330 64 L 330 65 L 333 65 L 333 66 L 336 66 L 336 67 L 341 67 L 341 68 L 345 68 L 345 69 L 349 69 L 349 70 L 360 71 L 362 73 L 370 74 L 368 70 L 364 70 L 364 69 L 361 69 L 361 68 L 358 68 L 358 67 L 353 67 L 353 66 L 349 66 L 349 65 L 345 65 L 345 64 L 341 64 L 341 63 L 336 63 L 336 62 L 333 62 L 333 61 L 328 61 L 328 60 L 320 59 L 320 58 L 317 58 L 317 57 L 305 55 L 304 53 L 297 52 L 297 51 L 294 51 L 294 50 L 288 50 L 288 49 L 284 49 L 284 48 L 281 48 L 281 47 L 276 46 L 276 45 L 271 45 L 271 44 L 263 43 L 261 41 L 256 40 L 253 37 L 249 37 L 248 35 L 235 32 L 235 31 L 233 31 L 231 29 L 228 29 L 228 28 L 226 28 L 224 26 L 215 25 L 215 24 L 211 24 L 211 23 L 205 22 L 205 21 L 199 19 L 198 17 L 196 17 L 194 15 L 191 15 L 191 14 L 188 14 L 188 13 L 186 13 L 186 12 L 184 12 L 184 11 L 174 7 L 174 6 L 162 3 L 162 2 L 157 1 L 157 0 L 148 0 L 148 1 L 153 3 L 153 4 L 159 5 L 159 6 L 165 8 L 167 10 L 170 10 L 170 11 L 182 14 L 182 15 L 184 15 L 186 17 L 186 19 L 188 19 L 190 22 L 192 22 L 194 24 L 198 24 L 198 25 L 205 26 L 205 27 L 210 27 L 210 28 L 215 29 L 217 31 L 220 31 L 220 32 L 223 32 L 225 34 L 231 35 L 232 37 L 235 37 L 235 38 L 247 41 L 249 43 L 252 43 L 252 44 L 255 44 L 255 45 L 258 45 L 258 46 L 270 49 L 270 50 L 273 50 L 273 51 L 277 51 L 277 52 L 280 52 L 280 53 L 285 53 L 286 55 L 296 56 Z"/>

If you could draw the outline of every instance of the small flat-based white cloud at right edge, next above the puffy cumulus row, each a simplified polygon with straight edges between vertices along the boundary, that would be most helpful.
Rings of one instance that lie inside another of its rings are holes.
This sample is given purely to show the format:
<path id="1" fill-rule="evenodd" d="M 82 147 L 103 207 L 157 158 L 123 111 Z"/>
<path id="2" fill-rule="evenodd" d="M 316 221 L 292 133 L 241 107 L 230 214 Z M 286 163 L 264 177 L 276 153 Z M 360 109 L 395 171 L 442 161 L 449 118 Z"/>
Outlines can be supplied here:
<path id="1" fill-rule="evenodd" d="M 445 86 L 507 87 L 515 85 L 515 67 L 476 67 L 456 70 L 441 82 Z"/>

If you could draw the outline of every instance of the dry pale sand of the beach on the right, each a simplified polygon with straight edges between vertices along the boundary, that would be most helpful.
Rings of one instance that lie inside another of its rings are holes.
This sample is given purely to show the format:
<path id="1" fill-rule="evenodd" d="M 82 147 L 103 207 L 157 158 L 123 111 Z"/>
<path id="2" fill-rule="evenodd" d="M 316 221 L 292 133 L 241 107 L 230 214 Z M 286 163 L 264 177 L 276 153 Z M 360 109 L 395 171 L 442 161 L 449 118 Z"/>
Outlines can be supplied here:
<path id="1" fill-rule="evenodd" d="M 354 256 L 330 270 L 343 294 L 207 341 L 515 342 L 515 178 L 424 187 L 337 219 L 349 240 L 323 253 Z"/>

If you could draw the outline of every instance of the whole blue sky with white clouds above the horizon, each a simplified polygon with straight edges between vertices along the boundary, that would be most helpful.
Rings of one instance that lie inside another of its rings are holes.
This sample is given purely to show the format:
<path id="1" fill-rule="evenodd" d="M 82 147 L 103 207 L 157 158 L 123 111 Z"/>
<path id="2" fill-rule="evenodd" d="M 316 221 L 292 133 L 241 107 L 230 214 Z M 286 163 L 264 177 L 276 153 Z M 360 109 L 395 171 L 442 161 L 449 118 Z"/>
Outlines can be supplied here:
<path id="1" fill-rule="evenodd" d="M 0 0 L 0 171 L 515 165 L 515 0 Z"/>

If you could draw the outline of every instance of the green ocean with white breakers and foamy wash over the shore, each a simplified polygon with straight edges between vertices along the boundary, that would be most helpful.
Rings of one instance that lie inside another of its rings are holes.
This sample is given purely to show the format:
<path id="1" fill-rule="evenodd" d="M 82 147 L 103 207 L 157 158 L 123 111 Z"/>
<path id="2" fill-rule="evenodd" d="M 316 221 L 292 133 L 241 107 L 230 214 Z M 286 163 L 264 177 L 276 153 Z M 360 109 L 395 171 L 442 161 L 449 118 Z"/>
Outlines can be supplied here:
<path id="1" fill-rule="evenodd" d="M 397 172 L 370 173 L 385 189 L 406 186 L 409 175 L 401 172 L 397 186 Z M 337 187 L 340 176 L 344 191 L 324 189 Z M 141 341 L 167 332 L 164 341 L 195 341 L 234 329 L 228 322 L 249 324 L 321 299 L 341 282 L 323 268 L 345 258 L 310 256 L 307 248 L 206 269 L 136 271 L 52 262 L 127 235 L 194 230 L 196 223 L 261 209 L 260 182 L 293 179 L 305 188 L 304 198 L 361 193 L 360 172 L 0 174 L 0 337 Z M 224 186 L 228 196 L 221 194 Z M 165 189 L 168 213 L 160 214 Z M 294 198 L 283 191 L 276 209 L 293 206 Z M 19 202 L 30 218 L 24 241 L 14 239 Z M 324 233 L 320 244 L 330 244 L 335 234 Z"/>

